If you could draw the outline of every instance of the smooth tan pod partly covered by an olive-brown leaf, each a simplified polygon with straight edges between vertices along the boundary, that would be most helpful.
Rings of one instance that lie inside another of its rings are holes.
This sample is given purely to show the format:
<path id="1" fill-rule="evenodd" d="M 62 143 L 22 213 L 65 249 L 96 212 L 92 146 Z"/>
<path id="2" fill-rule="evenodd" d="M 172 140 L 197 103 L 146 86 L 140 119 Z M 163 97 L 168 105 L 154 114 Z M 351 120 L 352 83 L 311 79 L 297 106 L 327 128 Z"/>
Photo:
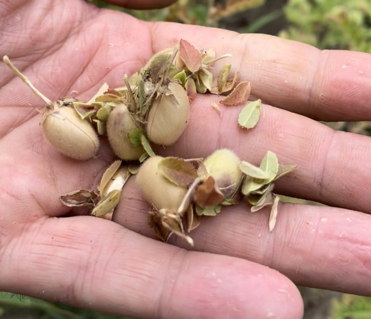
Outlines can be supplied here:
<path id="1" fill-rule="evenodd" d="M 136 175 L 137 185 L 143 198 L 157 209 L 176 211 L 181 205 L 187 189 L 170 182 L 158 169 L 164 158 L 160 156 L 146 160 Z"/>

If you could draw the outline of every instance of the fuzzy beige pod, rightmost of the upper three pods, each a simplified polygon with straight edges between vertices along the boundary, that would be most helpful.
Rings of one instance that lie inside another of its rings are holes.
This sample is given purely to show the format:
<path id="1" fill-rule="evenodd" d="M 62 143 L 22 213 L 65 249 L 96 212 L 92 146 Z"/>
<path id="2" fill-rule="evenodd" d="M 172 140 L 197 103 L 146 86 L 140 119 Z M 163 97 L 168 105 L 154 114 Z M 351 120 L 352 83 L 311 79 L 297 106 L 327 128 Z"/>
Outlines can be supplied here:
<path id="1" fill-rule="evenodd" d="M 189 100 L 184 88 L 169 83 L 171 95 L 162 95 L 153 101 L 147 117 L 148 138 L 157 145 L 174 144 L 182 135 L 189 114 Z"/>

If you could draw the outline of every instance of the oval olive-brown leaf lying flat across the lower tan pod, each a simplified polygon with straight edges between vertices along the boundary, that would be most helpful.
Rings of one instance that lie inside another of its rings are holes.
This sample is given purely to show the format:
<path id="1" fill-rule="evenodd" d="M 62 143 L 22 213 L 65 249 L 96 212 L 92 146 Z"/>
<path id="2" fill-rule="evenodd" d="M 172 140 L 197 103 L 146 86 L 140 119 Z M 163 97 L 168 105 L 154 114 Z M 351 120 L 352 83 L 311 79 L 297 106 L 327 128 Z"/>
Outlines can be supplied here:
<path id="1" fill-rule="evenodd" d="M 197 171 L 189 162 L 176 157 L 167 157 L 158 163 L 158 169 L 172 183 L 189 186 L 197 177 Z"/>

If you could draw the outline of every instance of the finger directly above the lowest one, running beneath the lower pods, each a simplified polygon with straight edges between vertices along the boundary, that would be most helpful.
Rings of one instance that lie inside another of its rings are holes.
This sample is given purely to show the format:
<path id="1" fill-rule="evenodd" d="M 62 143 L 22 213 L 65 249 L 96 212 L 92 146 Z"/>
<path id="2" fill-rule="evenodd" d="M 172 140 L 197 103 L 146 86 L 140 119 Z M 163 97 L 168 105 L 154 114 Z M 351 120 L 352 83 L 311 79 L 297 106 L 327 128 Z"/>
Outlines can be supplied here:
<path id="1" fill-rule="evenodd" d="M 134 183 L 131 180 L 126 186 L 113 220 L 155 238 L 147 225 L 148 204 Z M 192 249 L 269 266 L 297 285 L 371 296 L 370 215 L 280 203 L 272 232 L 268 230 L 268 219 L 269 209 L 250 213 L 246 202 L 225 206 L 217 216 L 204 217 L 200 226 L 188 234 L 194 241 Z M 170 242 L 190 249 L 176 236 Z"/>

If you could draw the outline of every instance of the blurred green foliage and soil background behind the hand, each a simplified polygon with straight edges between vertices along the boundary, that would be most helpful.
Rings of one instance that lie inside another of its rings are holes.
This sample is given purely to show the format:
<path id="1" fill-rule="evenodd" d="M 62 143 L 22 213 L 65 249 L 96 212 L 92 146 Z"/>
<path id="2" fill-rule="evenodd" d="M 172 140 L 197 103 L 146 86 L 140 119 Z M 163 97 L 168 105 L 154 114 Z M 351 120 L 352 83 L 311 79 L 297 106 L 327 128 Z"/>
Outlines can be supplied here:
<path id="1" fill-rule="evenodd" d="M 100 0 L 94 5 L 148 21 L 219 27 L 240 33 L 265 33 L 320 49 L 371 53 L 371 0 L 178 0 L 158 10 L 127 10 Z M 334 129 L 371 135 L 370 122 L 325 123 Z M 287 201 L 300 200 L 286 198 Z M 371 298 L 299 287 L 305 319 L 371 319 Z M 123 318 L 0 293 L 2 319 Z"/>

